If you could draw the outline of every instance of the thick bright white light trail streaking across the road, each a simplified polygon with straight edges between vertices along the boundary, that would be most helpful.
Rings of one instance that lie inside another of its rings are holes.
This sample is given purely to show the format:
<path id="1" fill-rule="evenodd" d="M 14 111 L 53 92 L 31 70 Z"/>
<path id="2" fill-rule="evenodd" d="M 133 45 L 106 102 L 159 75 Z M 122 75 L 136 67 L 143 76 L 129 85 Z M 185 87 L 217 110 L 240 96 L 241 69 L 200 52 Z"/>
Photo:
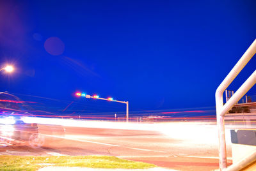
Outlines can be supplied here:
<path id="1" fill-rule="evenodd" d="M 198 142 L 199 144 L 217 143 L 218 137 L 216 125 L 202 122 L 177 122 L 177 123 L 116 123 L 105 121 L 81 121 L 72 119 L 51 119 L 43 117 L 22 117 L 24 123 L 54 124 L 81 128 L 104 128 L 117 130 L 145 130 L 158 131 L 164 135 L 180 139 Z M 226 130 L 227 140 L 230 140 L 230 130 Z"/>

